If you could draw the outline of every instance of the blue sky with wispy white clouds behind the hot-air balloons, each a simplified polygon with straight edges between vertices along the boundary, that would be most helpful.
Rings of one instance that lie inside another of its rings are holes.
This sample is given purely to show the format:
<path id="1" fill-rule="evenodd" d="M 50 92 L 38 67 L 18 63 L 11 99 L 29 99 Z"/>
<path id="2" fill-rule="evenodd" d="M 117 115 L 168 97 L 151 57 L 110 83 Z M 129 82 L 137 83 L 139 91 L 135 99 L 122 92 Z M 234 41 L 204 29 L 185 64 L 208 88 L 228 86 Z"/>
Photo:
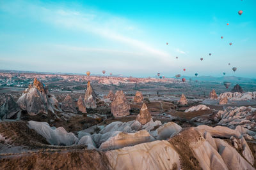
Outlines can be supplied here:
<path id="1" fill-rule="evenodd" d="M 0 1 L 0 69 L 256 78 L 255 8 L 255 0 Z"/>

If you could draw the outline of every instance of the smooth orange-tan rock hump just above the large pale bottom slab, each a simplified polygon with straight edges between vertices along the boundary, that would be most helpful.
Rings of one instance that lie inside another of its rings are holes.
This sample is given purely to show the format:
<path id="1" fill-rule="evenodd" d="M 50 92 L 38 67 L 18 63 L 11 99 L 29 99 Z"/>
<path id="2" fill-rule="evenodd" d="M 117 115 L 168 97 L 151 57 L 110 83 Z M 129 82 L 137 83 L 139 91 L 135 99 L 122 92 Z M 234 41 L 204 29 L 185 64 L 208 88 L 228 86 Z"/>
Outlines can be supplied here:
<path id="1" fill-rule="evenodd" d="M 150 134 L 145 130 L 141 130 L 136 133 L 120 132 L 116 136 L 111 137 L 102 143 L 100 145 L 100 149 L 118 149 L 124 148 L 125 146 L 138 145 L 139 143 L 145 143 L 149 141 L 154 141 L 154 138 L 150 136 Z"/>

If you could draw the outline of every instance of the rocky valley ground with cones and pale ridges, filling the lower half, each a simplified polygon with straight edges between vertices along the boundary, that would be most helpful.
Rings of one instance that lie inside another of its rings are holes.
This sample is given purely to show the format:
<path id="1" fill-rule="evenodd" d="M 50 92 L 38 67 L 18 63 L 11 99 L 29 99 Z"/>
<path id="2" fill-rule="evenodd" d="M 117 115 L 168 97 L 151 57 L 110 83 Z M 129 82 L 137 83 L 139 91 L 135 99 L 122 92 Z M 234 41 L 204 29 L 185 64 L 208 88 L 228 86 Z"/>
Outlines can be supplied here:
<path id="1" fill-rule="evenodd" d="M 1 169 L 256 168 L 255 92 L 94 85 L 0 89 Z"/>

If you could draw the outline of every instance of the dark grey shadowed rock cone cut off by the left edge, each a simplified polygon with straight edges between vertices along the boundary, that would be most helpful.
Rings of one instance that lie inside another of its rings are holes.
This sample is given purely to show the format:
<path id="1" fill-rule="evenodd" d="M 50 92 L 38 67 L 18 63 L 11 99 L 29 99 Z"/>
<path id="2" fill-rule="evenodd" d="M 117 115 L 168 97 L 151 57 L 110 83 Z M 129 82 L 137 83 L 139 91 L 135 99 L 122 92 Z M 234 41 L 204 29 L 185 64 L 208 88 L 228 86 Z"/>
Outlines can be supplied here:
<path id="1" fill-rule="evenodd" d="M 20 107 L 11 95 L 6 95 L 4 104 L 0 107 L 0 119 L 12 118 L 19 113 Z"/>

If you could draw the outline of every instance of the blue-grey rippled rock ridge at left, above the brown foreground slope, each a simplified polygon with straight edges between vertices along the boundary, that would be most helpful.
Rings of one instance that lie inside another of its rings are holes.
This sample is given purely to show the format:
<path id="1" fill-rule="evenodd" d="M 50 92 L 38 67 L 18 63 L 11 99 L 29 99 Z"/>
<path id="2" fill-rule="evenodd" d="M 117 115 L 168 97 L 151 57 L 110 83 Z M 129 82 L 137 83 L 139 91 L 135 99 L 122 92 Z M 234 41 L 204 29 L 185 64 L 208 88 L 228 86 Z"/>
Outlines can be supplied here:
<path id="1" fill-rule="evenodd" d="M 72 132 L 67 132 L 63 127 L 50 127 L 46 122 L 29 121 L 28 127 L 34 129 L 42 135 L 51 145 L 74 145 L 78 142 L 77 137 Z"/>

